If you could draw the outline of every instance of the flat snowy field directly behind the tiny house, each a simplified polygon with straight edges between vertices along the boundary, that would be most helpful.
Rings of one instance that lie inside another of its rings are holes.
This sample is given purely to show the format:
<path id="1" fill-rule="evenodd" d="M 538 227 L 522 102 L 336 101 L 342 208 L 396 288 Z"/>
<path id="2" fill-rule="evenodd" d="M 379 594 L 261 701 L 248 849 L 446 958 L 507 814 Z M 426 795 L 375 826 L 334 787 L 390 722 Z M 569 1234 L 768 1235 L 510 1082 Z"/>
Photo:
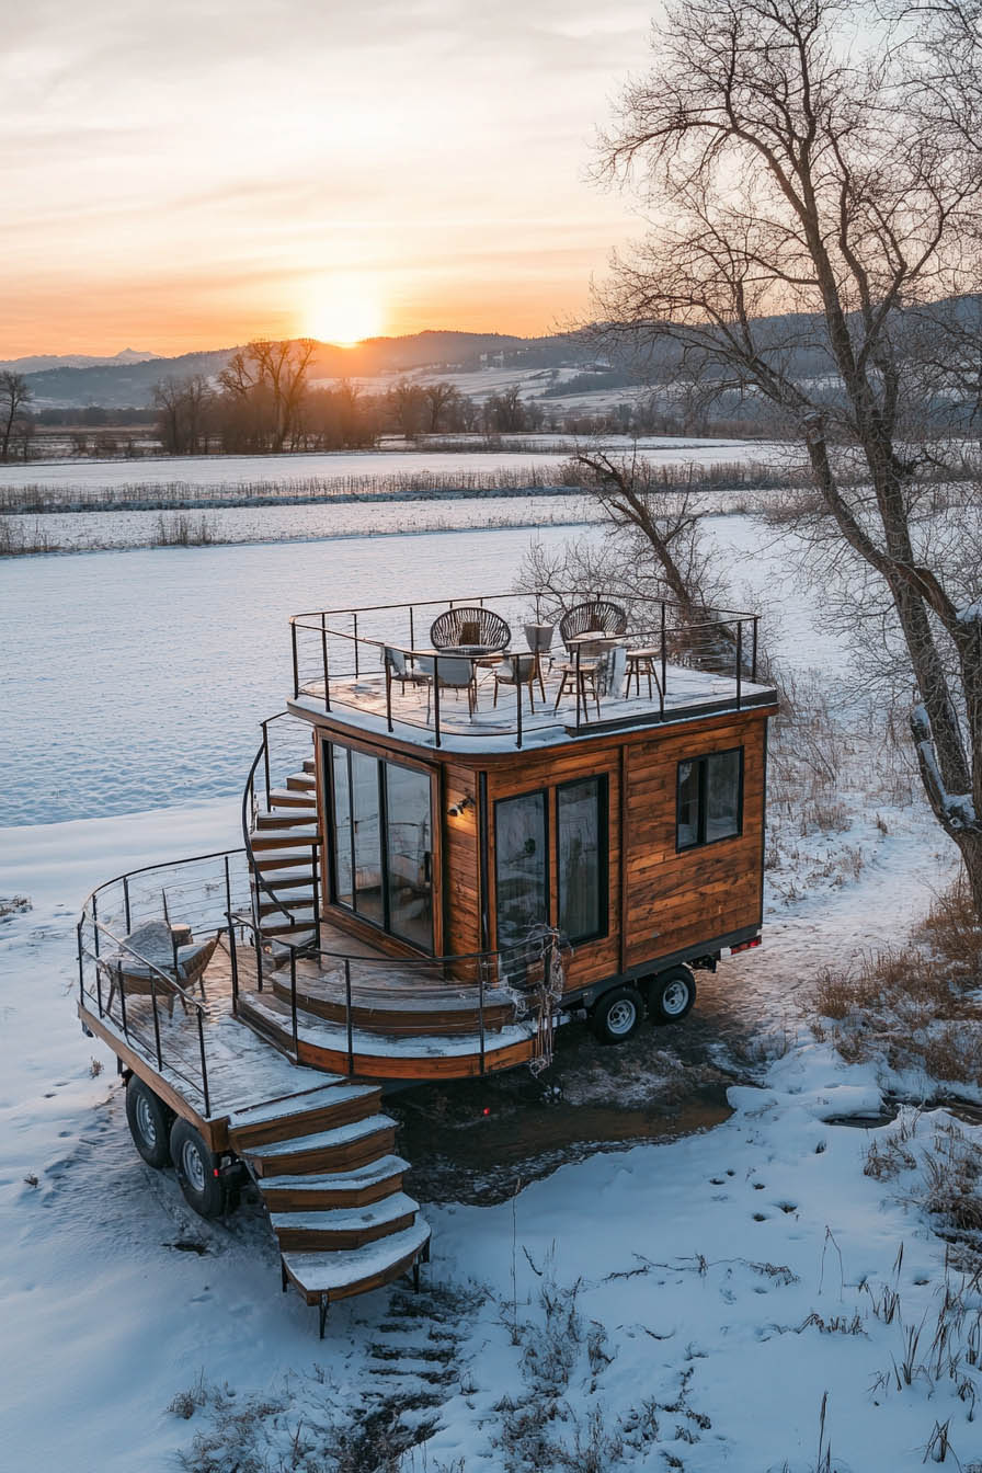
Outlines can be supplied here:
<path id="1" fill-rule="evenodd" d="M 405 511 L 405 508 L 403 508 Z M 710 530 L 802 670 L 832 658 L 786 549 L 749 517 Z M 543 527 L 545 546 L 596 529 Z M 290 694 L 290 614 L 512 586 L 527 530 L 16 558 L 0 573 L 0 823 L 241 792 L 258 723 Z M 738 601 L 738 607 L 742 607 Z"/>

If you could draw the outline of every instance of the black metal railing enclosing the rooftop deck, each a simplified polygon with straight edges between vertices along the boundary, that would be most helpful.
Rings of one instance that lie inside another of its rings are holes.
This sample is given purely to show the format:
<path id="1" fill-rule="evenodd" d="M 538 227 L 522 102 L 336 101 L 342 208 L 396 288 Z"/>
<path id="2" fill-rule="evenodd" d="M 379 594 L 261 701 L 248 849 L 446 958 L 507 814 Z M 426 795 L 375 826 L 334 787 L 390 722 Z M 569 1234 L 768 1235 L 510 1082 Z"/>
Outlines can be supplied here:
<path id="1" fill-rule="evenodd" d="M 564 589 L 530 595 L 476 594 L 467 598 L 427 600 L 414 604 L 368 604 L 359 608 L 328 608 L 294 614 L 290 619 L 293 698 L 312 698 L 322 703 L 325 711 L 333 707 L 374 711 L 377 706 L 375 689 L 367 686 L 359 692 L 356 685 L 367 676 L 381 678 L 386 648 L 398 651 L 411 669 L 417 661 L 425 660 L 433 667 L 431 723 L 428 719 L 425 722 L 414 719 L 403 706 L 396 713 L 392 698 L 393 681 L 384 681 L 386 728 L 392 732 L 398 720 L 406 726 L 431 731 L 434 745 L 440 747 L 445 735 L 440 719 L 440 660 L 453 660 L 458 666 L 459 661 L 468 661 L 471 675 L 476 676 L 478 667 L 486 663 L 487 654 L 468 654 L 464 650 L 449 648 L 440 651 L 424 644 L 418 638 L 423 611 L 427 611 L 425 619 L 430 619 L 436 610 L 443 611 L 459 605 L 481 608 L 496 605 L 496 611 L 508 619 L 514 633 L 521 629 L 523 623 L 540 625 L 543 611 L 558 625 L 564 610 L 577 602 L 592 602 L 604 600 L 604 597 L 602 591 L 598 589 Z M 685 664 L 690 669 L 713 670 L 730 678 L 735 710 L 741 710 L 743 706 L 746 682 L 757 681 L 760 616 L 727 608 L 707 608 L 704 614 L 705 617 L 692 617 L 686 611 L 683 617 L 682 605 L 677 602 L 640 594 L 633 595 L 629 602 L 629 627 L 618 639 L 629 648 L 635 645 L 657 651 L 655 658 L 660 669 L 657 711 L 660 720 L 665 714 L 671 666 Z M 557 629 L 554 655 L 562 653 L 559 645 Z M 521 641 L 512 639 L 508 653 L 524 653 Z M 579 648 L 571 658 L 579 675 Z M 514 714 L 508 717 L 502 706 L 496 731 L 512 735 L 515 745 L 521 747 L 529 732 L 555 728 L 557 717 L 548 704 L 540 716 L 523 714 L 523 686 L 515 682 L 514 691 Z M 576 731 L 589 729 L 589 725 L 586 711 L 582 710 L 577 700 Z"/>

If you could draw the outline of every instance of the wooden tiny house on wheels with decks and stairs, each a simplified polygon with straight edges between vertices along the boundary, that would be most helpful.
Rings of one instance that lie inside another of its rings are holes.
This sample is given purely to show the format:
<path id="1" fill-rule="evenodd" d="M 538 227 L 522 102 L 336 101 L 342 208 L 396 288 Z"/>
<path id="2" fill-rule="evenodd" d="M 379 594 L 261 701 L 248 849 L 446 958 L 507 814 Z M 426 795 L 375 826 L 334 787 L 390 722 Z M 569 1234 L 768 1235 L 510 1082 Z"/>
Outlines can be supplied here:
<path id="1" fill-rule="evenodd" d="M 752 614 L 595 591 L 299 614 L 243 847 L 85 901 L 78 1012 L 140 1155 L 206 1217 L 255 1181 L 321 1335 L 428 1258 L 387 1087 L 676 1022 L 758 944 L 757 645 Z"/>

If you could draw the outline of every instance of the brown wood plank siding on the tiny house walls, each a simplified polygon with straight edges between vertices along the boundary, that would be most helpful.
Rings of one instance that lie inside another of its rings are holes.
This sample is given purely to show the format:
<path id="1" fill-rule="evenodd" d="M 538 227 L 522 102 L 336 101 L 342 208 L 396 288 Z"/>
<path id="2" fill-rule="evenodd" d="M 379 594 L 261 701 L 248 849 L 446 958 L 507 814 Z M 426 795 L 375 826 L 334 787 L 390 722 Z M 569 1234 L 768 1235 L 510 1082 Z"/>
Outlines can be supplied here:
<path id="1" fill-rule="evenodd" d="M 767 719 L 773 706 L 754 706 L 643 729 L 623 729 L 523 751 L 483 754 L 412 750 L 399 739 L 372 738 L 337 716 L 314 717 L 318 738 L 384 757 L 433 775 L 433 862 L 436 952 L 464 956 L 495 949 L 495 803 L 545 791 L 549 828 L 549 921 L 559 912 L 557 873 L 557 791 L 582 778 L 607 784 L 607 928 L 579 944 L 565 969 L 568 991 L 635 972 L 660 957 L 688 953 L 761 921 Z M 679 763 L 742 748 L 742 829 L 733 838 L 677 850 Z M 319 753 L 319 741 L 318 741 Z M 321 816 L 327 794 L 318 760 Z M 486 822 L 481 804 L 486 792 Z M 448 810 L 470 800 L 459 815 Z M 330 904 L 325 915 L 350 934 L 371 938 L 390 955 L 412 947 L 350 912 Z M 483 919 L 486 922 L 483 924 Z M 418 955 L 418 953 L 417 953 Z"/>

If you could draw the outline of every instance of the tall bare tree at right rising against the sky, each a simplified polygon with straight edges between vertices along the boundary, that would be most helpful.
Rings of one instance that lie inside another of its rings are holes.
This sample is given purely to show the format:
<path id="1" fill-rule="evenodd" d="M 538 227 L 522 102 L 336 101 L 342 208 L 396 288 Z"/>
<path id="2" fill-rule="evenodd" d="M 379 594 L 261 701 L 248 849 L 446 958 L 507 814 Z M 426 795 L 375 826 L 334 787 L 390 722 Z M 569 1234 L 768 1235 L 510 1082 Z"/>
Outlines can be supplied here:
<path id="1" fill-rule="evenodd" d="M 805 445 L 804 524 L 889 602 L 925 790 L 982 916 L 982 572 L 925 516 L 910 370 L 911 324 L 942 331 L 939 299 L 982 284 L 982 6 L 883 6 L 668 9 L 604 144 L 657 224 L 601 305 L 611 336 L 674 342 L 707 399 L 755 395 Z"/>

